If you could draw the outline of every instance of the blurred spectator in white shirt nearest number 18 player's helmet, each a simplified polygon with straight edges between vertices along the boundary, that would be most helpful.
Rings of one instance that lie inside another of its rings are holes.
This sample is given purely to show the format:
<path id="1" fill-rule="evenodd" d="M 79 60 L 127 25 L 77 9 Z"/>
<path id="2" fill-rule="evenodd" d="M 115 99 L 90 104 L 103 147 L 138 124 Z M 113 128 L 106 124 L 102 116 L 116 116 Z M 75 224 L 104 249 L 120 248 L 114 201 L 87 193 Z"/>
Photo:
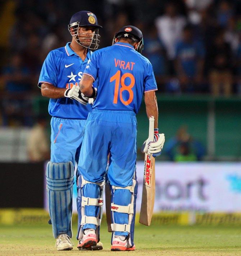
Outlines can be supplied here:
<path id="1" fill-rule="evenodd" d="M 174 73 L 173 59 L 175 57 L 175 45 L 181 39 L 182 29 L 186 24 L 186 18 L 177 14 L 176 4 L 168 3 L 165 7 L 165 14 L 157 17 L 156 28 L 160 40 L 167 50 L 169 69 L 171 75 Z"/>

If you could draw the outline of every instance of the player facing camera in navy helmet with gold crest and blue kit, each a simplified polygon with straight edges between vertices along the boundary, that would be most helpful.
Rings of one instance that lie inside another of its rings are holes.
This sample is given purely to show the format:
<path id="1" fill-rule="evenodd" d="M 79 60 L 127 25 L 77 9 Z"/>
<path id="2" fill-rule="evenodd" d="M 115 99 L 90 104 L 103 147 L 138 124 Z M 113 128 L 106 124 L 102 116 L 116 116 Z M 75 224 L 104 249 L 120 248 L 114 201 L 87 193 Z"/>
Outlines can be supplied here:
<path id="1" fill-rule="evenodd" d="M 94 13 L 75 13 L 68 25 L 72 41 L 50 51 L 38 81 L 42 95 L 50 98 L 51 159 L 47 164 L 46 180 L 57 250 L 73 249 L 70 238 L 74 164 L 79 159 L 83 129 L 91 111 L 89 98 L 79 92 L 78 84 L 90 60 L 91 49 L 99 46 L 99 28 Z"/>

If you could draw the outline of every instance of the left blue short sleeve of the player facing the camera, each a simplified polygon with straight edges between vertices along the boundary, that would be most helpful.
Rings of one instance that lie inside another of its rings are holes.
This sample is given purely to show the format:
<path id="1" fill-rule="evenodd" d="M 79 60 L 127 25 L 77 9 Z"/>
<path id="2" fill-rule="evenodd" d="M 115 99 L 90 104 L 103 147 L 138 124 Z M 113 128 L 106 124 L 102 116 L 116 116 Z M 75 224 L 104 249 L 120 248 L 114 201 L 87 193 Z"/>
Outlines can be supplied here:
<path id="1" fill-rule="evenodd" d="M 57 86 L 57 81 L 58 80 L 55 55 L 54 51 L 50 51 L 42 66 L 40 77 L 38 80 L 38 87 L 41 88 L 41 84 L 45 82 Z"/>

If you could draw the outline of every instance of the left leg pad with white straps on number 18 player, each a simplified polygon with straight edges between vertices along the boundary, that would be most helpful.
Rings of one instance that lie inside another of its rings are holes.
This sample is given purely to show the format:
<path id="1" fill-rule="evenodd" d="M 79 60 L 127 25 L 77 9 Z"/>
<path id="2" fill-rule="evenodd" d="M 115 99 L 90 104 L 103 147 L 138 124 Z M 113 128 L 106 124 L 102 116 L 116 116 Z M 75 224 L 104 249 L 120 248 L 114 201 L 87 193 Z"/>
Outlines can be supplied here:
<path id="1" fill-rule="evenodd" d="M 83 230 L 92 228 L 96 230 L 96 238 L 99 241 L 100 223 L 103 207 L 103 187 L 105 182 L 90 182 L 77 175 L 77 210 L 78 210 L 78 234 L 77 239 L 83 237 Z"/>

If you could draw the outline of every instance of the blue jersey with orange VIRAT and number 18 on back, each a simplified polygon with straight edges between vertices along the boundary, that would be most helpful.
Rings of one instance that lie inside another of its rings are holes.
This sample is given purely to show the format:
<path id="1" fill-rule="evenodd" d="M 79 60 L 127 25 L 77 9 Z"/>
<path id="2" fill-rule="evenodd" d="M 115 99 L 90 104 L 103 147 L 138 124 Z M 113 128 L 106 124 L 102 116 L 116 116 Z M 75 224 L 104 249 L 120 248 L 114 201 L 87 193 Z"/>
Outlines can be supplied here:
<path id="1" fill-rule="evenodd" d="M 84 74 L 98 78 L 97 109 L 137 113 L 143 93 L 157 90 L 150 61 L 123 42 L 95 51 Z"/>

